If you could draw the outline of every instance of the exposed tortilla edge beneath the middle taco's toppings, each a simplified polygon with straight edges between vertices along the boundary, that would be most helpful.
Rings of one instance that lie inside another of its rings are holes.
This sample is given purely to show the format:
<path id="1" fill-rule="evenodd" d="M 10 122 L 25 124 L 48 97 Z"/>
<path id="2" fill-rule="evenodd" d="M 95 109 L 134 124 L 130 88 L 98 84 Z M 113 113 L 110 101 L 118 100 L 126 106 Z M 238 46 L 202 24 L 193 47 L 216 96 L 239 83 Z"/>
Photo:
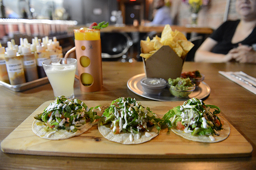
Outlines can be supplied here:
<path id="1" fill-rule="evenodd" d="M 102 125 L 101 122 L 104 120 L 103 118 L 100 118 L 98 121 L 98 129 L 99 132 L 101 133 L 101 135 L 113 142 L 118 142 L 118 143 L 122 143 L 122 144 L 139 144 L 139 143 L 143 143 L 146 141 L 149 141 L 151 139 L 153 139 L 154 137 L 156 137 L 159 134 L 159 131 L 156 129 L 155 126 L 152 126 L 151 128 L 148 127 L 147 129 L 149 130 L 148 133 L 150 133 L 152 136 L 150 137 L 146 137 L 145 133 L 147 132 L 140 132 L 140 138 L 137 139 L 137 134 L 132 134 L 133 135 L 133 140 L 130 141 L 130 134 L 131 133 L 124 133 L 124 132 L 120 132 L 119 134 L 114 134 L 112 129 L 110 129 L 110 124 L 107 125 Z"/>

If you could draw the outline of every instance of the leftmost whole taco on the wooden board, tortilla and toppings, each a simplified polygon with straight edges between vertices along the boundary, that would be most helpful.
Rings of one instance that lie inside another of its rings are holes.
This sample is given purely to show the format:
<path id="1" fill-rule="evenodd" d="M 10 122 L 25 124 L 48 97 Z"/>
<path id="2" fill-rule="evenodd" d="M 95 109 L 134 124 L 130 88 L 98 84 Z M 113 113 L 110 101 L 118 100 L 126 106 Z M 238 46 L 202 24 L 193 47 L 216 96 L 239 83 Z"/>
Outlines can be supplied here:
<path id="1" fill-rule="evenodd" d="M 32 131 L 44 139 L 59 140 L 81 135 L 95 123 L 97 112 L 79 99 L 59 96 L 43 113 L 34 116 Z"/>

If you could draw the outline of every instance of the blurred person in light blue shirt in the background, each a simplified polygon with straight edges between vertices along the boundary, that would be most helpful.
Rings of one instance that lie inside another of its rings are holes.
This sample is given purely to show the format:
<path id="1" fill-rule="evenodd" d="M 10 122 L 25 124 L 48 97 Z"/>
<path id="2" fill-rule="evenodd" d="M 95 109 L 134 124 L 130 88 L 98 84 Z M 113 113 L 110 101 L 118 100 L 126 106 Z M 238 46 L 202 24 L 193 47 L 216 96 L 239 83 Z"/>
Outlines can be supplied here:
<path id="1" fill-rule="evenodd" d="M 165 6 L 165 0 L 158 0 L 155 16 L 152 22 L 145 23 L 145 26 L 172 25 L 170 8 Z"/>

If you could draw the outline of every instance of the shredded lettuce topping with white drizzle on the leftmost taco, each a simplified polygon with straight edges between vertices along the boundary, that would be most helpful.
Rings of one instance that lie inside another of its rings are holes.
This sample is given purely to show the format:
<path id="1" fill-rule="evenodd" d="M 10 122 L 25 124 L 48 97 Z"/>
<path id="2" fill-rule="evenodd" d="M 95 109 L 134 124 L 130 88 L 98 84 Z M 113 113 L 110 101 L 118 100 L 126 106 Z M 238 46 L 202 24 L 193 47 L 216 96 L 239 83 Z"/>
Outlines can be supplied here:
<path id="1" fill-rule="evenodd" d="M 34 118 L 43 121 L 48 128 L 65 129 L 70 131 L 70 126 L 75 128 L 72 132 L 77 131 L 76 124 L 85 124 L 88 120 L 93 122 L 101 118 L 94 112 L 99 106 L 88 108 L 88 106 L 79 99 L 68 100 L 65 96 L 59 96 L 56 100 L 46 107 L 43 113 L 36 115 Z"/>

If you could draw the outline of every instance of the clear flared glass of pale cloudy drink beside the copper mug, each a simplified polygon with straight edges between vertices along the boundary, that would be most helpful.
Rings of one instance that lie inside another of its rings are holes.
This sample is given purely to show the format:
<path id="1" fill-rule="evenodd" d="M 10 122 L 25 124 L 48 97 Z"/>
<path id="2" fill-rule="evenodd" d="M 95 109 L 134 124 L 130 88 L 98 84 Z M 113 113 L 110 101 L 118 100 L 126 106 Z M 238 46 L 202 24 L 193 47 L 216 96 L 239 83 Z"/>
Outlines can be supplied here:
<path id="1" fill-rule="evenodd" d="M 42 62 L 55 97 L 65 96 L 74 99 L 76 65 L 75 58 L 56 58 Z"/>

